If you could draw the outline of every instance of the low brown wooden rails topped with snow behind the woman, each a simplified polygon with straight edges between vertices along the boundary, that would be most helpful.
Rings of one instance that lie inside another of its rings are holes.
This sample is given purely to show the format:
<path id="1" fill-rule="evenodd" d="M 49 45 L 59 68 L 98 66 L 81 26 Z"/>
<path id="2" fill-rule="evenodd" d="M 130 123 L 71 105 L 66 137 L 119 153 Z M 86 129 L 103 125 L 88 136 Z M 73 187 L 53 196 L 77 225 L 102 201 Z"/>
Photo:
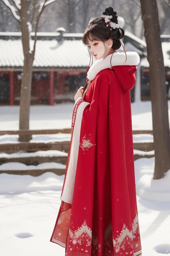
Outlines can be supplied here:
<path id="1" fill-rule="evenodd" d="M 50 130 L 11 130 L 11 131 L 0 131 L 0 135 L 49 135 L 49 134 L 57 134 L 57 133 L 71 133 L 71 129 L 50 129 Z M 151 134 L 152 130 L 133 130 L 133 135 L 136 134 Z M 17 142 L 17 143 L 1 143 L 0 144 L 0 152 L 4 153 L 15 153 L 20 150 L 24 150 L 28 153 L 36 152 L 39 150 L 59 150 L 65 153 L 68 153 L 68 148 L 70 145 L 70 141 L 53 141 L 53 142 Z M 154 153 L 154 144 L 153 142 L 134 142 L 133 148 L 136 150 L 134 154 L 134 160 L 139 159 L 141 157 L 153 157 Z M 139 151 L 138 151 L 139 150 Z M 151 151 L 151 153 L 150 153 Z M 0 157 L 0 164 L 4 164 L 7 162 L 20 162 L 26 165 L 38 165 L 44 162 L 57 162 L 61 164 L 66 164 L 67 156 L 30 156 L 30 157 Z M 35 170 L 21 170 L 21 171 L 5 171 L 1 170 L 0 173 L 12 173 L 12 174 L 29 174 L 33 176 L 38 176 L 44 172 L 52 171 L 58 175 L 62 175 L 65 173 L 65 169 L 35 169 Z"/>

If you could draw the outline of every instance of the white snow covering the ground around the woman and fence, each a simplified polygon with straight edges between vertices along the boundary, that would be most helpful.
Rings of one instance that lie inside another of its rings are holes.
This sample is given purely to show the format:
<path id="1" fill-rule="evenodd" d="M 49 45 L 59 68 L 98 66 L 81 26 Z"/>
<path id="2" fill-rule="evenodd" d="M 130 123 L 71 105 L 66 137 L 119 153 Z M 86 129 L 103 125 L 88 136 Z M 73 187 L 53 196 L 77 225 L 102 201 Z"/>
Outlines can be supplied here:
<path id="1" fill-rule="evenodd" d="M 170 101 L 168 106 L 170 110 Z M 72 110 L 73 103 L 31 106 L 30 128 L 70 128 Z M 18 130 L 18 116 L 18 106 L 1 106 L 0 130 Z M 133 130 L 152 130 L 149 101 L 132 103 L 132 126 Z M 33 137 L 34 142 L 64 139 L 69 140 L 70 135 Z M 153 137 L 134 135 L 133 140 L 153 142 Z M 18 143 L 18 137 L 0 136 L 0 143 L 12 141 Z M 170 171 L 163 179 L 153 180 L 154 162 L 154 157 L 135 161 L 143 256 L 170 255 Z M 57 163 L 50 163 L 51 166 L 54 166 L 53 164 L 57 166 Z M 10 169 L 12 163 L 8 165 Z M 16 165 L 15 167 L 17 168 Z M 19 168 L 22 168 L 20 164 Z M 51 172 L 38 177 L 0 174 L 0 255 L 64 256 L 65 249 L 49 241 L 60 207 L 63 181 L 64 175 L 59 176 Z"/>

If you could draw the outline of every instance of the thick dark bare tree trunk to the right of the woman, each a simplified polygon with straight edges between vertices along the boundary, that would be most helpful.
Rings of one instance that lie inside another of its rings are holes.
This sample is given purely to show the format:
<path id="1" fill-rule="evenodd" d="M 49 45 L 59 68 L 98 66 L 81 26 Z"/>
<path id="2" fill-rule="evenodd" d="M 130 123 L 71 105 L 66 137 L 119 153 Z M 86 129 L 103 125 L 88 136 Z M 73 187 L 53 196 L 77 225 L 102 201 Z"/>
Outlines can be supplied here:
<path id="1" fill-rule="evenodd" d="M 157 1 L 141 0 L 141 12 L 150 65 L 150 92 L 155 149 L 153 178 L 160 179 L 170 169 L 170 128 Z"/>

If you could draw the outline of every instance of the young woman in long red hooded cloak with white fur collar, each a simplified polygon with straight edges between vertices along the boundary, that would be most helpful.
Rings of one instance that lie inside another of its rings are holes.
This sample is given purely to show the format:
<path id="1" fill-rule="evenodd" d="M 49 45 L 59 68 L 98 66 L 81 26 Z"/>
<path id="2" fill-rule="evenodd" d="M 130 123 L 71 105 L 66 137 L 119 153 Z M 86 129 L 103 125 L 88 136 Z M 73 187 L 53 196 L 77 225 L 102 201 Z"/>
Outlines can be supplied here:
<path id="1" fill-rule="evenodd" d="M 66 256 L 141 256 L 130 90 L 136 52 L 117 52 L 124 30 L 113 7 L 83 35 L 96 62 L 75 94 L 61 206 L 51 242 Z"/>

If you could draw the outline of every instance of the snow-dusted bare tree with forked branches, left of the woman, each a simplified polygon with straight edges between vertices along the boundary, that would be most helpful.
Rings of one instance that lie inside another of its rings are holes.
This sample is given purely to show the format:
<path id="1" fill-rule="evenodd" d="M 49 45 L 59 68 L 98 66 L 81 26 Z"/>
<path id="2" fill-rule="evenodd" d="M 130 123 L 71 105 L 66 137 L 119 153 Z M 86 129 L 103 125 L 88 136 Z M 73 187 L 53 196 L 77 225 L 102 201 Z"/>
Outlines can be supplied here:
<path id="1" fill-rule="evenodd" d="M 22 33 L 24 53 L 23 76 L 20 92 L 20 129 L 29 129 L 29 112 L 31 100 L 32 69 L 35 56 L 38 22 L 45 7 L 56 0 L 2 0 L 18 21 Z M 32 13 L 31 13 L 32 10 Z M 35 25 L 35 36 L 31 40 L 32 26 Z M 19 141 L 29 141 L 29 135 L 20 135 Z"/>

